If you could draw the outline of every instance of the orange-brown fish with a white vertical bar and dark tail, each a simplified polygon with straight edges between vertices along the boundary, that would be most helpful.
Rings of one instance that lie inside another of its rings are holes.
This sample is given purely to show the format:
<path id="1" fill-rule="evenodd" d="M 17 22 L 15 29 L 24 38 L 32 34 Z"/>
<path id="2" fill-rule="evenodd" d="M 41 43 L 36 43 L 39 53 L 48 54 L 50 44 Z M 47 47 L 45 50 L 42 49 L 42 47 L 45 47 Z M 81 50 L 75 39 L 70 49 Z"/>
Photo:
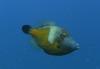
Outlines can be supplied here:
<path id="1" fill-rule="evenodd" d="M 37 27 L 23 25 L 22 31 L 30 35 L 37 46 L 48 55 L 62 56 L 78 50 L 79 43 L 72 38 L 68 31 L 54 23 L 48 21 Z"/>

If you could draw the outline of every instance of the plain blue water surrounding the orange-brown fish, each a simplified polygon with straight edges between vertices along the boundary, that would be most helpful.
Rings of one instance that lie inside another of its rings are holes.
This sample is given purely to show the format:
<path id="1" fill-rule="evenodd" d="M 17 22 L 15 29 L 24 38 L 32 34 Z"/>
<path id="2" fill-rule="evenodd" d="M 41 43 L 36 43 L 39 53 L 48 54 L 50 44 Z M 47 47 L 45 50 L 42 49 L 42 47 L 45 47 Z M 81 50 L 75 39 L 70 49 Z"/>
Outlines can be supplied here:
<path id="1" fill-rule="evenodd" d="M 60 57 L 33 49 L 21 26 L 42 19 L 68 29 L 80 49 Z M 100 1 L 0 0 L 0 69 L 100 69 Z"/>

